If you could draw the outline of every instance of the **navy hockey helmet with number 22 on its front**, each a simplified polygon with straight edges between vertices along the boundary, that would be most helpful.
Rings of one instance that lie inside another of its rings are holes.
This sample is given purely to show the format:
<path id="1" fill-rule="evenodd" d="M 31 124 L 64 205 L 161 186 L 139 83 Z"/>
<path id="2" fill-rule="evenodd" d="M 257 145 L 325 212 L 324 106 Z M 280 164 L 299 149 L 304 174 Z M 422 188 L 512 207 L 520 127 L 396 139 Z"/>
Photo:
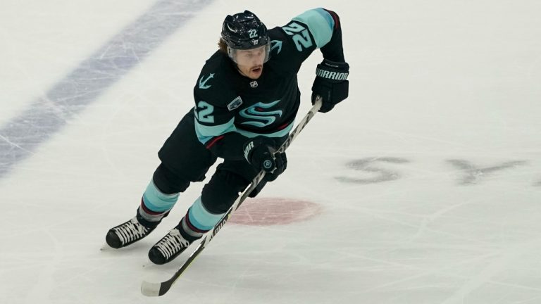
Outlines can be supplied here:
<path id="1" fill-rule="evenodd" d="M 225 17 L 222 39 L 231 49 L 254 49 L 270 43 L 267 27 L 251 11 Z"/>

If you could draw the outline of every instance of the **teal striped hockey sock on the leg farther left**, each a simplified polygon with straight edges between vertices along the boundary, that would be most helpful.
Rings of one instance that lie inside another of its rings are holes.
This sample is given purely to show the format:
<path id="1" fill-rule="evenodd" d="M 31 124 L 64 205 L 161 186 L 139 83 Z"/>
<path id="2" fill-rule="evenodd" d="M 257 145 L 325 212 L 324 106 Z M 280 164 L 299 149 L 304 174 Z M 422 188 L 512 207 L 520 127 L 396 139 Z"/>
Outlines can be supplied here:
<path id="1" fill-rule="evenodd" d="M 151 180 L 141 198 L 139 213 L 144 220 L 159 222 L 177 203 L 178 196 L 179 194 L 164 194 Z"/>

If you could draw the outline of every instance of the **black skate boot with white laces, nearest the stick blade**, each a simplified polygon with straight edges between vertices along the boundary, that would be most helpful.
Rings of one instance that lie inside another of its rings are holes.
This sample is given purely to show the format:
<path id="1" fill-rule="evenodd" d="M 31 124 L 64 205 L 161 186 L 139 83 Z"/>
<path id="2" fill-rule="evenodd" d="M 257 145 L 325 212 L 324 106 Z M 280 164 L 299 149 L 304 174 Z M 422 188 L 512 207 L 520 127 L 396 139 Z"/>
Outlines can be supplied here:
<path id="1" fill-rule="evenodd" d="M 149 259 L 157 265 L 170 262 L 197 239 L 201 239 L 201 237 L 189 236 L 182 230 L 182 224 L 178 224 L 150 248 Z"/>

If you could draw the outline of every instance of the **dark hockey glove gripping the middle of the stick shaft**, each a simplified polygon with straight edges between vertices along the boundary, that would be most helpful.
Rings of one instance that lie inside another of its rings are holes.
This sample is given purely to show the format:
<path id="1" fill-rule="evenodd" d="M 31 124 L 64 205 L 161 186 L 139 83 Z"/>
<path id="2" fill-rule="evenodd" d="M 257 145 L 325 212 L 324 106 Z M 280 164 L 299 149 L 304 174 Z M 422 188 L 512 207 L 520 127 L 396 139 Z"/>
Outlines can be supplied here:
<path id="1" fill-rule="evenodd" d="M 266 172 L 264 179 L 272 182 L 287 167 L 285 153 L 275 153 L 275 142 L 268 137 L 255 137 L 244 144 L 244 158 L 256 171 Z"/>

